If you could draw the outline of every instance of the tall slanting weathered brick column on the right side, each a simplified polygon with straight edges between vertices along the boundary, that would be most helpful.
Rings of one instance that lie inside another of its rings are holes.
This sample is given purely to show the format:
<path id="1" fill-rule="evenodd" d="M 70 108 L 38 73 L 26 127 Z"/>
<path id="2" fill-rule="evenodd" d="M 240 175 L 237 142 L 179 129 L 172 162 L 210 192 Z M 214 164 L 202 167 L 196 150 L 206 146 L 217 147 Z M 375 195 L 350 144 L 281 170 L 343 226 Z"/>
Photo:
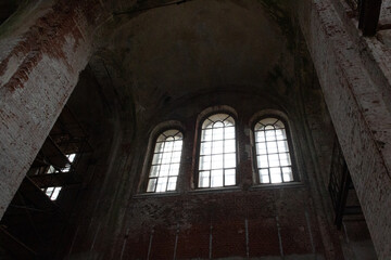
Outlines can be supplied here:
<path id="1" fill-rule="evenodd" d="M 342 22 L 331 0 L 299 1 L 298 8 L 376 251 L 379 259 L 390 259 L 391 114 L 389 98 L 381 92 L 390 88 L 391 80 L 379 84 L 373 72 L 381 64 L 375 58 L 364 62 L 363 55 L 371 55 L 369 47 L 362 49 L 367 39 L 360 37 L 357 29 L 348 28 L 353 24 Z"/>

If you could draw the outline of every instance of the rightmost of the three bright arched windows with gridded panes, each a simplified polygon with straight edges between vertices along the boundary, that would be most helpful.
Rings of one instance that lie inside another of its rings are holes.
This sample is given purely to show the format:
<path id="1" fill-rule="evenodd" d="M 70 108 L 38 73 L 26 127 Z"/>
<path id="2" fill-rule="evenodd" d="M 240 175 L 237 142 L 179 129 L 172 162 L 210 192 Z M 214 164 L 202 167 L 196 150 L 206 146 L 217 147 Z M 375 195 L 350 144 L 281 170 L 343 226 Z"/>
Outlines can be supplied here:
<path id="1" fill-rule="evenodd" d="M 292 182 L 292 164 L 287 131 L 277 118 L 264 118 L 254 127 L 260 183 Z"/>

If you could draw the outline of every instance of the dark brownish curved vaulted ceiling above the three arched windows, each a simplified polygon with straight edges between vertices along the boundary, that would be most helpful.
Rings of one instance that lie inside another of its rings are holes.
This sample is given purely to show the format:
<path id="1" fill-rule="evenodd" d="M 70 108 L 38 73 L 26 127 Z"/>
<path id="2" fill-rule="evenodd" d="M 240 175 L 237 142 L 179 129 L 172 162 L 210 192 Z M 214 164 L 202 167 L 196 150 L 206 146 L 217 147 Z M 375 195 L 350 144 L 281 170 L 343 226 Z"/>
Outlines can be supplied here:
<path id="1" fill-rule="evenodd" d="M 294 78 L 294 28 L 279 2 L 118 2 L 97 31 L 90 67 L 139 113 L 219 89 L 283 92 Z"/>

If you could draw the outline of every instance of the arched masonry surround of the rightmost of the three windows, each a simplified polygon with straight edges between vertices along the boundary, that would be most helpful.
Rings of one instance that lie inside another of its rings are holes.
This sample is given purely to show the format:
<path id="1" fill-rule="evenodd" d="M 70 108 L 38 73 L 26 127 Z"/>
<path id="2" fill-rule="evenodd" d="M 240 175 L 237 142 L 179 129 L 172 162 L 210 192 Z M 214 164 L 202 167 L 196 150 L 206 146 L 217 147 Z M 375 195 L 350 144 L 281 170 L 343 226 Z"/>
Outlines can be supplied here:
<path id="1" fill-rule="evenodd" d="M 280 182 L 280 183 L 261 183 L 260 174 L 256 160 L 256 147 L 255 147 L 255 131 L 254 128 L 258 121 L 265 118 L 276 118 L 279 119 L 286 129 L 287 141 L 289 146 L 289 154 L 291 159 L 291 168 L 293 181 L 290 182 Z M 294 132 L 292 132 L 292 122 L 289 119 L 289 116 L 281 110 L 277 109 L 263 109 L 255 113 L 249 122 L 250 126 L 250 144 L 251 144 L 251 162 L 253 171 L 253 183 L 256 186 L 279 186 L 279 185 L 292 185 L 302 182 L 302 177 L 300 174 L 300 165 L 298 164 L 298 145 L 295 145 Z"/>

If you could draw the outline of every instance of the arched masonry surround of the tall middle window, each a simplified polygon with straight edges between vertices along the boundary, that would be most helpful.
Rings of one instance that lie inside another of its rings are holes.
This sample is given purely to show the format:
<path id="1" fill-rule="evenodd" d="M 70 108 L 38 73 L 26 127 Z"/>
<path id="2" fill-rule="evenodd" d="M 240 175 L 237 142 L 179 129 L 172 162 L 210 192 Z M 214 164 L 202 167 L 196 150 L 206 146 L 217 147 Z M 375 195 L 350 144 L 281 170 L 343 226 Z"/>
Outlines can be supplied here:
<path id="1" fill-rule="evenodd" d="M 200 153 L 201 153 L 201 132 L 202 132 L 202 125 L 203 122 L 212 115 L 215 114 L 227 114 L 232 117 L 235 120 L 235 145 L 236 145 L 236 184 L 230 186 L 218 186 L 218 187 L 199 187 L 199 165 L 200 165 Z M 192 169 L 192 182 L 191 186 L 194 191 L 207 191 L 207 190 L 227 190 L 227 188 L 236 188 L 240 186 L 240 172 L 239 172 L 239 164 L 240 164 L 240 156 L 239 156 L 239 132 L 238 132 L 238 114 L 235 108 L 228 105 L 216 105 L 211 106 L 203 109 L 199 113 L 197 122 L 195 122 L 195 136 L 194 136 L 194 152 L 192 155 L 193 160 L 193 169 Z"/>

